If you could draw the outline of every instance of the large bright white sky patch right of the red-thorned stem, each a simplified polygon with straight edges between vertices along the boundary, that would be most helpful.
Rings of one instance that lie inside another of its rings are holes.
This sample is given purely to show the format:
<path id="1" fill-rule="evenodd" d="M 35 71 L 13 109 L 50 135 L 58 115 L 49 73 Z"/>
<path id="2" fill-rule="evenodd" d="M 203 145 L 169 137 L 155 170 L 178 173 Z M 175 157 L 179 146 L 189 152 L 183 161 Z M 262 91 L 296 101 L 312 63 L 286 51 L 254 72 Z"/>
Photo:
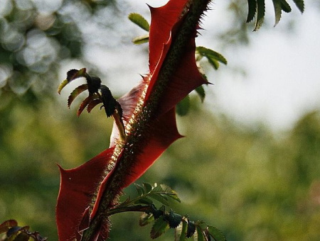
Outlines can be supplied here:
<path id="1" fill-rule="evenodd" d="M 320 24 L 320 12 L 308 6 L 306 3 L 302 16 L 292 13 L 297 21 L 294 33 L 277 30 L 289 21 L 290 14 L 283 13 L 275 28 L 270 28 L 269 21 L 262 26 L 268 29 L 250 33 L 253 38 L 249 47 L 221 52 L 228 66 L 208 74 L 215 84 L 209 87 L 206 100 L 212 103 L 209 105 L 213 111 L 226 113 L 240 123 L 265 123 L 274 130 L 283 130 L 307 111 L 320 109 L 320 28 L 315 27 Z M 209 32 L 212 22 L 206 23 Z M 210 40 L 201 44 L 210 45 Z M 229 67 L 237 65 L 244 66 L 247 75 L 228 72 Z"/>

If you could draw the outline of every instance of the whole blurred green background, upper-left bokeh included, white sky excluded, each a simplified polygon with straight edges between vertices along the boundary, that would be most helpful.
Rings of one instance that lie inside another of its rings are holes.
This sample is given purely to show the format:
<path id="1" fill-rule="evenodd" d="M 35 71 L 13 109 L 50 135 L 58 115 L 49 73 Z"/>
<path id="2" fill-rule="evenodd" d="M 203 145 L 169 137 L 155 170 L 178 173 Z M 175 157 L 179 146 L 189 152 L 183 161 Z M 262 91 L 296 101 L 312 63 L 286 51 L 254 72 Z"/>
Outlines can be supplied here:
<path id="1" fill-rule="evenodd" d="M 228 11 L 245 18 L 246 7 L 245 1 L 230 1 Z M 112 84 L 88 52 L 90 45 L 136 47 L 130 41 L 141 32 L 126 20 L 130 11 L 137 11 L 133 1 L 1 0 L 0 222 L 14 218 L 58 240 L 57 163 L 73 168 L 105 150 L 112 120 L 99 110 L 77 118 L 75 107 L 66 108 L 67 94 L 58 96 L 56 89 L 65 66 L 87 67 Z M 250 30 L 252 25 L 231 24 L 215 41 L 250 45 Z M 146 45 L 139 51 L 146 59 Z M 115 60 L 131 61 L 120 53 Z M 114 89 L 118 96 L 135 83 L 123 78 L 117 82 L 125 87 Z M 174 211 L 206 220 L 228 240 L 320 240 L 318 111 L 282 132 L 263 123 L 243 125 L 193 95 L 189 112 L 178 117 L 186 138 L 169 147 L 138 183 L 171 186 L 182 200 Z M 134 196 L 134 187 L 125 193 Z M 149 240 L 151 226 L 139 228 L 138 218 L 139 213 L 112 217 L 111 240 Z M 158 240 L 173 240 L 172 232 Z"/>

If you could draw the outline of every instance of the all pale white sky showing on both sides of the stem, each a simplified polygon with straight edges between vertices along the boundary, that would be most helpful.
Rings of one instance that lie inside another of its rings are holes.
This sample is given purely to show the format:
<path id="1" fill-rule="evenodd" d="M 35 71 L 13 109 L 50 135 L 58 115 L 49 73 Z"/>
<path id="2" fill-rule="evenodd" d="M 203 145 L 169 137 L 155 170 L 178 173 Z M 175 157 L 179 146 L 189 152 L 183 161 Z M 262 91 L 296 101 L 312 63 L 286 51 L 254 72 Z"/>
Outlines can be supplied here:
<path id="1" fill-rule="evenodd" d="M 161 6 L 165 2 L 134 1 L 128 14 L 141 13 L 149 21 L 146 4 Z M 274 11 L 267 6 L 266 23 L 258 32 L 249 33 L 249 47 L 230 45 L 222 52 L 214 35 L 228 26 L 225 4 L 223 1 L 211 4 L 213 10 L 203 18 L 205 30 L 197 38 L 198 45 L 212 48 L 228 60 L 228 65 L 220 65 L 218 72 L 207 73 L 214 85 L 206 88 L 206 105 L 213 112 L 226 113 L 240 123 L 265 123 L 274 130 L 290 128 L 304 113 L 319 108 L 320 28 L 316 27 L 320 26 L 319 9 L 306 1 L 305 13 L 301 14 L 292 2 L 292 13 L 282 13 L 281 21 L 273 28 Z M 296 28 L 293 33 L 286 33 L 284 28 L 292 20 L 296 21 Z M 145 33 L 129 21 L 125 24 L 132 25 L 132 33 Z M 128 32 L 128 38 L 136 37 L 132 33 Z M 146 45 L 109 49 L 91 46 L 86 54 L 106 74 L 102 82 L 116 91 L 114 94 L 122 95 L 139 82 L 139 74 L 148 72 L 145 50 Z M 238 67 L 245 67 L 247 74 L 230 71 Z"/>

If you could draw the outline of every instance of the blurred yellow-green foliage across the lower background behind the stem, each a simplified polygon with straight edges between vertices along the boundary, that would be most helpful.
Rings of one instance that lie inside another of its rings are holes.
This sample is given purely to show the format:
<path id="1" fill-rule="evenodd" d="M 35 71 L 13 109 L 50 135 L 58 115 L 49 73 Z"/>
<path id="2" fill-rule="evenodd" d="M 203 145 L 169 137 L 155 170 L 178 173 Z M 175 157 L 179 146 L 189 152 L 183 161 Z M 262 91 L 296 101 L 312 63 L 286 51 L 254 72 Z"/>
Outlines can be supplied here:
<path id="1" fill-rule="evenodd" d="M 103 111 L 75 118 L 43 102 L 21 101 L 0 111 L 0 217 L 31 225 L 57 240 L 56 163 L 76 167 L 108 145 L 111 121 Z M 318 240 L 320 237 L 320 114 L 309 113 L 283 135 L 263 126 L 245 128 L 191 101 L 179 118 L 178 140 L 139 182 L 178 192 L 174 211 L 220 228 L 228 240 Z M 134 187 L 126 194 L 137 196 Z M 148 240 L 138 213 L 112 217 L 112 240 Z M 171 232 L 171 231 L 170 231 Z M 172 233 L 159 240 L 171 240 Z"/>

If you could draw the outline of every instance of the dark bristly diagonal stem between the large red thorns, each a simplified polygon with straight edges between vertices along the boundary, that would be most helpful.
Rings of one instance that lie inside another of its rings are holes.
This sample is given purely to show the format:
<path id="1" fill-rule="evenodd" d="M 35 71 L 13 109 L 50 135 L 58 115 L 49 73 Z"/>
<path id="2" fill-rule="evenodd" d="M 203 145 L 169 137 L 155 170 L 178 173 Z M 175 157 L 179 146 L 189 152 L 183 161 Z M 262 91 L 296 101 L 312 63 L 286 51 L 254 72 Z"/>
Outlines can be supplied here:
<path id="1" fill-rule="evenodd" d="M 188 41 L 195 35 L 198 21 L 203 12 L 206 11 L 209 2 L 210 0 L 192 1 L 191 7 L 188 13 L 186 13 L 185 19 L 181 23 L 178 33 L 176 33 L 176 38 L 173 40 L 170 50 L 166 55 L 154 86 L 154 91 L 151 92 L 146 105 L 137 115 L 134 125 L 132 125 L 132 131 L 127 136 L 127 140 L 123 144 L 120 144 L 124 149 L 122 160 L 114 167 L 116 169 L 112 176 L 110 176 L 110 182 L 102 196 L 97 214 L 91 221 L 90 227 L 83 233 L 82 241 L 91 241 L 92 237 L 98 232 L 97 230 L 100 228 L 101 223 L 107 223 L 108 215 L 110 215 L 110 206 L 117 201 L 117 196 L 121 192 L 119 186 L 122 186 L 122 183 L 129 174 L 129 169 L 135 161 L 141 143 L 144 143 L 143 140 L 146 138 L 146 133 L 148 133 L 146 130 L 149 128 L 149 123 L 154 120 L 159 100 L 164 91 L 166 91 L 166 86 L 168 86 L 176 67 L 181 62 L 181 57 L 183 57 L 183 52 L 188 45 Z"/>

